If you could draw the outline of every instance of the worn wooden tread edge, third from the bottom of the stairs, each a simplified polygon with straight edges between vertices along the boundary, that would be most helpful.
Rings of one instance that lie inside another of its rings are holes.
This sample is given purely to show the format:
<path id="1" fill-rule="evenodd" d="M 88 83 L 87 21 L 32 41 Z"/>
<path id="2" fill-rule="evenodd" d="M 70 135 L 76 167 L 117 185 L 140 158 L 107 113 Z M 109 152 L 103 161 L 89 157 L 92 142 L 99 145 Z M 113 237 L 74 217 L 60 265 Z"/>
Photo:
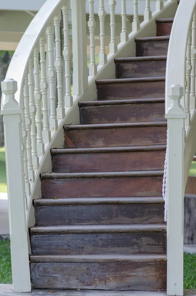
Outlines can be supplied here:
<path id="1" fill-rule="evenodd" d="M 59 199 L 35 199 L 35 206 L 52 205 L 94 205 L 94 204 L 162 204 L 162 196 L 150 197 L 76 197 Z"/>

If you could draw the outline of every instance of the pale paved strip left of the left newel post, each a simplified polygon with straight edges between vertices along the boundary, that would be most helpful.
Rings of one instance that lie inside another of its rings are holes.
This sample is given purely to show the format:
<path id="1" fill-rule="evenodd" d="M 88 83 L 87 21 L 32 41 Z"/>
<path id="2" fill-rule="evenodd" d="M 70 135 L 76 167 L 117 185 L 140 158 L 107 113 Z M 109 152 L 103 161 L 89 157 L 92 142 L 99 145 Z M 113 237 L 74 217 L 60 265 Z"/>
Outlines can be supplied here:
<path id="1" fill-rule="evenodd" d="M 0 193 L 0 236 L 9 234 L 7 193 Z"/>

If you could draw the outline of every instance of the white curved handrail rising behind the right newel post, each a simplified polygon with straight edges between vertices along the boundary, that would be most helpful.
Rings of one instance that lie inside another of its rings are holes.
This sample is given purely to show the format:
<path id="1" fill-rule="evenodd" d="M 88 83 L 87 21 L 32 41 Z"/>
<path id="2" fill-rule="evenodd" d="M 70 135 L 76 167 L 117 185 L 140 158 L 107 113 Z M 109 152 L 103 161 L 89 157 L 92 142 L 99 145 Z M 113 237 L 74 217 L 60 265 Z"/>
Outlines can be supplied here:
<path id="1" fill-rule="evenodd" d="M 168 87 L 178 84 L 184 87 L 186 71 L 187 42 L 195 11 L 196 1 L 181 0 L 177 9 L 169 39 L 166 76 L 165 76 L 165 113 L 167 114 L 171 101 L 168 97 Z M 182 21 L 183 20 L 183 21 Z M 185 106 L 184 100 L 181 102 Z"/>

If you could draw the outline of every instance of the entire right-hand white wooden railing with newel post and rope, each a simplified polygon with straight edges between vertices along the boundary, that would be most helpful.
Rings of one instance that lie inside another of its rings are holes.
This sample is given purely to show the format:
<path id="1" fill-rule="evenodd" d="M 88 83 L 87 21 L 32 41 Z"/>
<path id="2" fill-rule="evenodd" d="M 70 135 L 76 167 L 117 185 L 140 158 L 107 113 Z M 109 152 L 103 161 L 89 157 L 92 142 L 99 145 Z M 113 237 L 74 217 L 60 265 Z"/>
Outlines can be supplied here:
<path id="1" fill-rule="evenodd" d="M 184 192 L 196 151 L 196 0 L 180 0 L 169 41 L 167 118 L 167 294 L 183 295 Z"/>

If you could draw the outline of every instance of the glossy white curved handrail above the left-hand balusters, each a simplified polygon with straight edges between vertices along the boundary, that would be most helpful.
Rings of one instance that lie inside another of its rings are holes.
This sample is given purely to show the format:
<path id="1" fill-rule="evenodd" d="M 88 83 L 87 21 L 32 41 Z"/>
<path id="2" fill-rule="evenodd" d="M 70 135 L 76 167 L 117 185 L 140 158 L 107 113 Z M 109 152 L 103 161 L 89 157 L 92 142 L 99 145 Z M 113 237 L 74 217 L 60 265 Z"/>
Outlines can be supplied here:
<path id="1" fill-rule="evenodd" d="M 15 53 L 10 61 L 6 77 L 11 77 L 17 81 L 18 91 L 15 94 L 15 99 L 21 106 L 21 95 L 23 91 L 24 75 L 28 65 L 29 59 L 33 53 L 39 38 L 47 28 L 51 19 L 55 17 L 57 12 L 63 6 L 64 0 L 47 0 L 40 8 L 34 19 L 31 21 L 29 27 L 21 38 Z M 22 53 L 22 54 L 21 54 Z M 4 101 L 2 94 L 1 110 Z"/>

